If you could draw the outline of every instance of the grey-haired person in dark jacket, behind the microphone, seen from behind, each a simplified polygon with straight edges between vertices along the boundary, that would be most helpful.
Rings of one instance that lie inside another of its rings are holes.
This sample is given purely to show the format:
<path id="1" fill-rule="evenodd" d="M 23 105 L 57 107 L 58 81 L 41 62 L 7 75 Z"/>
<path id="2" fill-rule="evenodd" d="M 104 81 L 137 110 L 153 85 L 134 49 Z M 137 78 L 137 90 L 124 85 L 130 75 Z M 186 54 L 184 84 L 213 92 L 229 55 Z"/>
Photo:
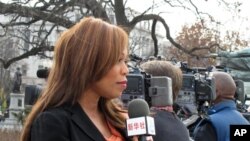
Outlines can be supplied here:
<path id="1" fill-rule="evenodd" d="M 141 65 L 142 69 L 152 76 L 166 76 L 172 79 L 172 93 L 175 101 L 182 86 L 182 71 L 167 61 L 153 60 Z M 171 86 L 170 86 L 171 87 Z M 156 135 L 155 141 L 188 141 L 189 133 L 186 126 L 177 117 L 173 110 L 173 105 L 162 107 L 151 106 L 155 119 Z"/>

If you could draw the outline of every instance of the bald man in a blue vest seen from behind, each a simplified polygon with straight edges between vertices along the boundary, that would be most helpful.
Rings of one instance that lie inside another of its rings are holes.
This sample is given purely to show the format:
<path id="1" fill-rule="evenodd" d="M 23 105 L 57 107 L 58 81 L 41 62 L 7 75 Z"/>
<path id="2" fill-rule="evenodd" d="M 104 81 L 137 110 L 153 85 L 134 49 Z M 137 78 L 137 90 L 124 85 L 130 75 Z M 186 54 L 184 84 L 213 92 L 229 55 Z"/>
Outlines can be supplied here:
<path id="1" fill-rule="evenodd" d="M 194 130 L 195 141 L 229 141 L 231 124 L 249 124 L 237 111 L 234 95 L 236 85 L 225 72 L 214 72 L 216 99 L 208 110 L 208 117 L 201 120 Z"/>

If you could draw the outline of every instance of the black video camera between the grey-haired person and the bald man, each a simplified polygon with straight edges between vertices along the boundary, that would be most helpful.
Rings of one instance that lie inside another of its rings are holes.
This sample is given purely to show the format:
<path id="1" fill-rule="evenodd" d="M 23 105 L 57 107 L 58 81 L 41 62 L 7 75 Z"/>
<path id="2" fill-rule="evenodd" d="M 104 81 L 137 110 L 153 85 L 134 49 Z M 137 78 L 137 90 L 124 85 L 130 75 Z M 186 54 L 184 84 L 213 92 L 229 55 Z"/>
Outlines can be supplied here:
<path id="1" fill-rule="evenodd" d="M 211 101 L 216 98 L 215 80 L 211 68 L 189 68 L 181 63 L 182 88 L 176 99 L 180 107 L 188 108 L 190 114 L 205 114 Z"/>

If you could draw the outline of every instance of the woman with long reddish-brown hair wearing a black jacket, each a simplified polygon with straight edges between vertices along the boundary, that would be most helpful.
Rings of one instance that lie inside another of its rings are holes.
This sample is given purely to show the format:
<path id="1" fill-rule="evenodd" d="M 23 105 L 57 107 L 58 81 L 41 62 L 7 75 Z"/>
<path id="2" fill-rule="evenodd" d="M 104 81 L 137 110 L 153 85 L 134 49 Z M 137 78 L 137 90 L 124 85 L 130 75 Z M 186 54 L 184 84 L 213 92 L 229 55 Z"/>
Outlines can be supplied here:
<path id="1" fill-rule="evenodd" d="M 21 141 L 124 141 L 125 118 L 112 99 L 126 88 L 128 36 L 86 17 L 59 38 L 47 87 Z"/>

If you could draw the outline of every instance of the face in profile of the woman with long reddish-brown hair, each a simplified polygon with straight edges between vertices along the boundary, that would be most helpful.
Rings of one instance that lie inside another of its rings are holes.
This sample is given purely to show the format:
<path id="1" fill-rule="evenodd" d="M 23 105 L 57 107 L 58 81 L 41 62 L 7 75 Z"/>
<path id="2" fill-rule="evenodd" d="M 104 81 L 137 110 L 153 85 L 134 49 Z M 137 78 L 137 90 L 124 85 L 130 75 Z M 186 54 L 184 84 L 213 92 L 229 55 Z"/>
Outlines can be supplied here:
<path id="1" fill-rule="evenodd" d="M 127 87 L 127 78 L 129 70 L 127 67 L 126 48 L 120 55 L 119 61 L 108 71 L 108 73 L 92 87 L 92 91 L 105 98 L 116 98 L 121 96 L 122 91 Z"/>

